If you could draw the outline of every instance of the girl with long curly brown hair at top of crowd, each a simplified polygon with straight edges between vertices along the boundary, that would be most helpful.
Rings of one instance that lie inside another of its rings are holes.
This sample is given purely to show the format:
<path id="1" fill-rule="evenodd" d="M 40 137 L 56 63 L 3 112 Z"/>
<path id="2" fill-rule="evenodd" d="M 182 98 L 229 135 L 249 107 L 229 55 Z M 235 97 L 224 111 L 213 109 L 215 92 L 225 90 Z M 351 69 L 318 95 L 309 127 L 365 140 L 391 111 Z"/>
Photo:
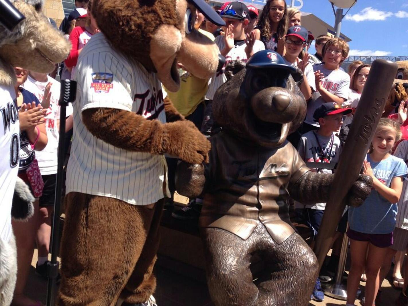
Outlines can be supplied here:
<path id="1" fill-rule="evenodd" d="M 288 9 L 284 0 L 268 0 L 262 10 L 258 26 L 254 29 L 256 39 L 265 49 L 284 54 L 285 35 L 288 30 Z"/>

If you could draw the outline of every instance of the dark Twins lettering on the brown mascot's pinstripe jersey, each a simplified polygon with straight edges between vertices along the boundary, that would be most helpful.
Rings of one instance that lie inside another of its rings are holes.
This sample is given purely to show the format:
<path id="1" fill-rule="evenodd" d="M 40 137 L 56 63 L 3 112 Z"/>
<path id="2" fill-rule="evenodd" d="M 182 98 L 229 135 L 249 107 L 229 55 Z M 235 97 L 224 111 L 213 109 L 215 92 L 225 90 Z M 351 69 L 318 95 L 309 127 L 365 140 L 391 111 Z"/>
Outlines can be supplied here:
<path id="1" fill-rule="evenodd" d="M 156 119 L 162 111 L 164 111 L 163 93 L 162 89 L 159 89 L 156 93 L 156 88 L 153 87 L 153 93 L 150 93 L 150 89 L 147 89 L 144 93 L 136 93 L 133 101 L 136 102 L 140 99 L 140 106 L 137 110 L 137 115 L 142 115 L 144 118 L 153 120 Z M 144 104 L 146 103 L 146 109 Z"/>

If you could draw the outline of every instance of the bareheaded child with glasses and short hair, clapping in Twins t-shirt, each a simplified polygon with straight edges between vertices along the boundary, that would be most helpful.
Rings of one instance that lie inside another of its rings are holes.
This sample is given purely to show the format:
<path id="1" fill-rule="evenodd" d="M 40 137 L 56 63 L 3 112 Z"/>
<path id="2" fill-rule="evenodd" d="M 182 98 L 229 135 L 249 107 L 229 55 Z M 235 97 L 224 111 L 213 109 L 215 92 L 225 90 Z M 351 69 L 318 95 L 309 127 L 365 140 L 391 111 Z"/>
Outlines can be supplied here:
<path id="1" fill-rule="evenodd" d="M 320 97 L 308 102 L 303 125 L 304 133 L 319 127 L 319 123 L 313 120 L 313 113 L 320 105 L 326 102 L 335 102 L 341 106 L 344 101 L 347 101 L 350 76 L 339 67 L 347 58 L 349 50 L 347 42 L 341 38 L 330 39 L 322 50 L 323 63 L 313 65 L 316 91 L 320 93 Z"/>

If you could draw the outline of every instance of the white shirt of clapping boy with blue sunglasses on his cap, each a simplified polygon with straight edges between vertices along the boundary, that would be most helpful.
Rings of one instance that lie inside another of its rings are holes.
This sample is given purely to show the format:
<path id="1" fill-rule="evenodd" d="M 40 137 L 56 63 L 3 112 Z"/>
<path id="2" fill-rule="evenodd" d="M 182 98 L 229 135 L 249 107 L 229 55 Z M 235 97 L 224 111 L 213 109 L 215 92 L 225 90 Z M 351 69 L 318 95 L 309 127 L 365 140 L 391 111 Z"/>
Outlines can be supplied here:
<path id="1" fill-rule="evenodd" d="M 224 42 L 224 36 L 217 36 L 215 38 L 215 44 L 217 44 L 218 49 L 220 51 L 224 49 L 225 47 L 225 42 Z M 248 58 L 246 57 L 245 53 L 245 47 L 246 44 L 244 41 L 239 42 L 238 44 L 235 44 L 235 46 L 228 52 L 228 54 L 225 57 L 225 64 L 224 67 L 222 67 L 221 71 L 217 71 L 214 76 L 209 80 L 209 86 L 208 86 L 208 91 L 206 94 L 206 98 L 209 100 L 213 100 L 214 94 L 217 91 L 217 89 L 226 82 L 227 78 L 224 74 L 225 71 L 225 66 L 228 64 L 228 62 L 231 62 L 232 60 L 242 60 L 243 62 L 246 62 Z M 253 52 L 257 53 L 258 51 L 265 50 L 265 45 L 263 42 L 260 40 L 255 40 L 255 44 L 253 46 Z"/>

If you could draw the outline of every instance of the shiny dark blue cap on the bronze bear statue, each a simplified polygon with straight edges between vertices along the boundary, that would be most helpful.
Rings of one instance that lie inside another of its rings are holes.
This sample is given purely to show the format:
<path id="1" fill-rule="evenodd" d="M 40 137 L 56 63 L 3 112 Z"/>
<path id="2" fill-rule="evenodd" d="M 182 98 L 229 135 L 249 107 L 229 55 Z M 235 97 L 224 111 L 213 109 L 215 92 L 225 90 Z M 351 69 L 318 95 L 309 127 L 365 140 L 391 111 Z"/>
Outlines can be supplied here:
<path id="1" fill-rule="evenodd" d="M 247 68 L 280 68 L 295 73 L 295 67 L 288 65 L 282 56 L 271 50 L 258 51 L 246 62 Z"/>

